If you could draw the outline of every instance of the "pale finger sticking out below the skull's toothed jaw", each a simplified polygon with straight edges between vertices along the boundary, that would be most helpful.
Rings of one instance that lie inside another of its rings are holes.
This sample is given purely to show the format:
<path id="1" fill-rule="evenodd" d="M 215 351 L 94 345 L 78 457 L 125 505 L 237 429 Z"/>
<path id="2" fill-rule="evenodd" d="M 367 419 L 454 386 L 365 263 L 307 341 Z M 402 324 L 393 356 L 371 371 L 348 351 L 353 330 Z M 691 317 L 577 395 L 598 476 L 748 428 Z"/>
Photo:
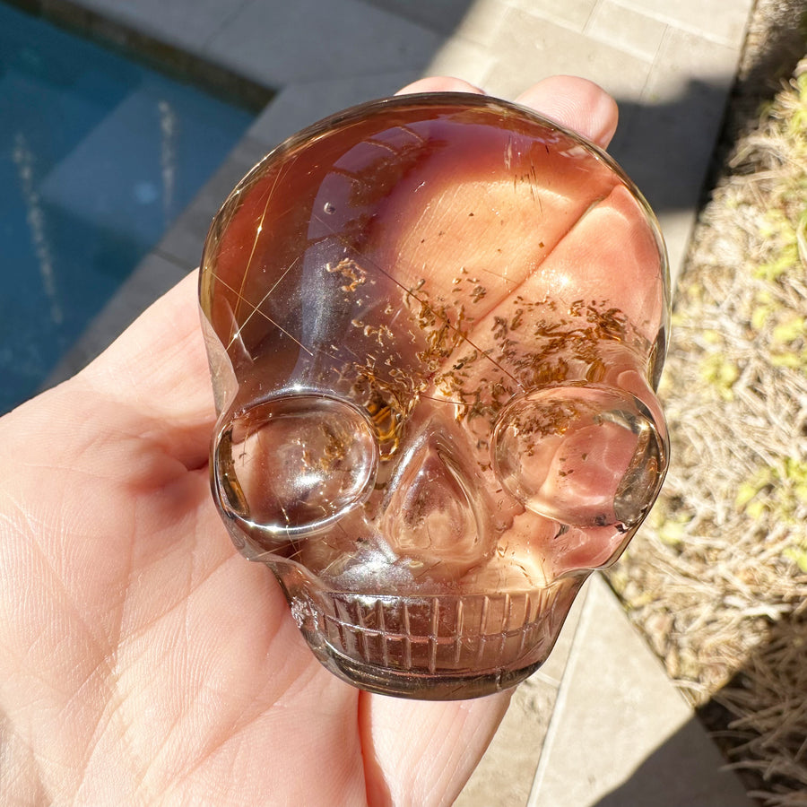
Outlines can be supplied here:
<path id="1" fill-rule="evenodd" d="M 369 803 L 454 803 L 510 695 L 434 703 L 362 693 L 359 728 Z"/>

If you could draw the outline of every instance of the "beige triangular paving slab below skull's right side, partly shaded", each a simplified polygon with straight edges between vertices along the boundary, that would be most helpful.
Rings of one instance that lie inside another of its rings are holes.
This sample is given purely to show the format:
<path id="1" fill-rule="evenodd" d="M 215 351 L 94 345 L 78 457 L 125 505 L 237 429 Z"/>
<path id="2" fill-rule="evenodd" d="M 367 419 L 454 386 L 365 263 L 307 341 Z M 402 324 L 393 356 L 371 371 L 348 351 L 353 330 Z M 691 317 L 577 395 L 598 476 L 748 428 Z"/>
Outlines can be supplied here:
<path id="1" fill-rule="evenodd" d="M 594 577 L 528 807 L 751 807 L 739 779 Z"/>

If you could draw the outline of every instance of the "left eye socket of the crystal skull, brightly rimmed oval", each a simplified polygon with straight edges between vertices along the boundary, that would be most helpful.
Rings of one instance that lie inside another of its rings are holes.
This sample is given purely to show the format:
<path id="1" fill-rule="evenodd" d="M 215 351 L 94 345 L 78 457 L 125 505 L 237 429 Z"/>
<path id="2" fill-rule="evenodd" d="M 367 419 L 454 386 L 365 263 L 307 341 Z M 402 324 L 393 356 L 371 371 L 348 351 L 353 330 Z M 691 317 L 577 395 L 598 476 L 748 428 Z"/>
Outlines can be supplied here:
<path id="1" fill-rule="evenodd" d="M 289 395 L 233 417 L 216 441 L 213 463 L 225 511 L 286 538 L 315 532 L 369 497 L 377 439 L 350 404 Z"/>

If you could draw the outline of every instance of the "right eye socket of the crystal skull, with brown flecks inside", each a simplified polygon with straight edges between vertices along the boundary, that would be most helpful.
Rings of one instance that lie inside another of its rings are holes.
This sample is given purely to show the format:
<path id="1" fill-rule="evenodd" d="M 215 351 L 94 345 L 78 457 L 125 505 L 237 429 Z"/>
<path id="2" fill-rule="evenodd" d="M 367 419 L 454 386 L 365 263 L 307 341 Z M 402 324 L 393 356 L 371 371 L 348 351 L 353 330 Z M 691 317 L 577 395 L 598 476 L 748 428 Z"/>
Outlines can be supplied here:
<path id="1" fill-rule="evenodd" d="M 646 515 L 664 481 L 663 434 L 627 392 L 548 386 L 502 411 L 493 462 L 502 484 L 534 513 L 567 525 L 627 529 Z"/>

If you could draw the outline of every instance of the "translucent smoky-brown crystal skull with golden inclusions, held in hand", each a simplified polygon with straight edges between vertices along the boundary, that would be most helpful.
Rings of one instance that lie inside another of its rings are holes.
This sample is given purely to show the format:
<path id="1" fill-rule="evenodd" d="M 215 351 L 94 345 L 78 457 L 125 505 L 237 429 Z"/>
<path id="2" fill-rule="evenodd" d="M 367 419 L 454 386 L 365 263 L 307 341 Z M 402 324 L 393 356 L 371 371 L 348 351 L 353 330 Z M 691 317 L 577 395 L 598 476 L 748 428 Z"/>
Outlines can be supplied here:
<path id="1" fill-rule="evenodd" d="M 464 93 L 291 137 L 200 280 L 213 498 L 363 689 L 485 695 L 542 664 L 668 461 L 657 222 L 604 152 Z"/>

